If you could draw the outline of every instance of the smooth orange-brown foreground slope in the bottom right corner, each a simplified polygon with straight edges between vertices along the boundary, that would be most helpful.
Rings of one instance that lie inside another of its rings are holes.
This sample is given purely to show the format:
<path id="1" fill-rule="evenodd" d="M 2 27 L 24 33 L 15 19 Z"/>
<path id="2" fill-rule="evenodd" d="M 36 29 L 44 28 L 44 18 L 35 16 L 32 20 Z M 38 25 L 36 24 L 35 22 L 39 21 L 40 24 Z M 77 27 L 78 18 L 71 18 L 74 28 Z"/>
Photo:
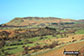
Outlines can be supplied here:
<path id="1" fill-rule="evenodd" d="M 43 53 L 43 54 L 39 54 L 39 55 L 33 55 L 33 56 L 65 56 L 63 54 L 64 48 L 67 51 L 78 51 L 82 47 L 84 47 L 84 41 L 78 42 L 78 43 L 69 44 L 69 45 L 61 47 L 59 49 L 55 49 L 55 50 L 49 51 L 47 53 Z"/>

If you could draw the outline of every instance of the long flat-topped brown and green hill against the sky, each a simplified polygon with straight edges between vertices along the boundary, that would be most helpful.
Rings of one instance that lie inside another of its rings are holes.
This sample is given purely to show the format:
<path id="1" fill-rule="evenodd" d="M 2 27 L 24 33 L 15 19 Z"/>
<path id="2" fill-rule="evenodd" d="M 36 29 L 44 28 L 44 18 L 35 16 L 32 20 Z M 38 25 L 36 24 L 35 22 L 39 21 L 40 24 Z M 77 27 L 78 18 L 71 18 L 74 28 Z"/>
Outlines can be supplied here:
<path id="1" fill-rule="evenodd" d="M 28 25 L 38 25 L 40 23 L 59 23 L 59 22 L 74 22 L 72 19 L 62 19 L 55 17 L 23 17 L 23 18 L 14 18 L 6 25 L 12 26 L 28 26 Z"/>

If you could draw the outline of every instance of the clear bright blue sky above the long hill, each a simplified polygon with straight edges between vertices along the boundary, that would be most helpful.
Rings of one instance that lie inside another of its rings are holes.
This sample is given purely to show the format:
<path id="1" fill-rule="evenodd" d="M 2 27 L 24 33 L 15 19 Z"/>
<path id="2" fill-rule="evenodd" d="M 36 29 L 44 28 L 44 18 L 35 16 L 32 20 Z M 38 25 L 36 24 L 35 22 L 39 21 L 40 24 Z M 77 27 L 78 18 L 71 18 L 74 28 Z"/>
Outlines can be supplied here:
<path id="1" fill-rule="evenodd" d="M 84 19 L 84 0 L 0 0 L 0 24 L 28 16 Z"/>

